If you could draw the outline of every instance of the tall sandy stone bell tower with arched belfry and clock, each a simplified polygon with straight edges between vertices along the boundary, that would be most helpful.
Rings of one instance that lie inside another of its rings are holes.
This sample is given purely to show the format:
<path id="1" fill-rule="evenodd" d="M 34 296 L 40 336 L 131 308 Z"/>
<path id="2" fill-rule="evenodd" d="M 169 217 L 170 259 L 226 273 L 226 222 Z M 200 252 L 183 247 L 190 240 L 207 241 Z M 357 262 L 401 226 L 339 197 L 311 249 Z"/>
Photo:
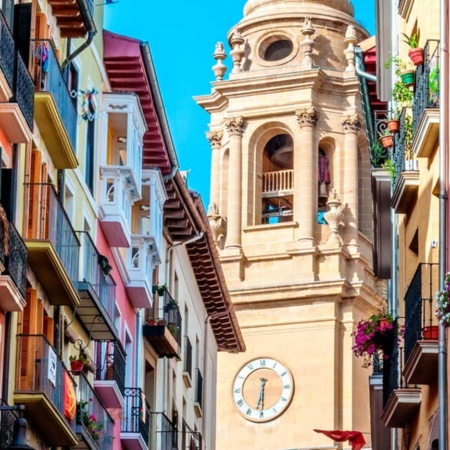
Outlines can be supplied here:
<path id="1" fill-rule="evenodd" d="M 370 430 L 370 372 L 351 337 L 380 302 L 353 59 L 365 38 L 349 0 L 249 0 L 196 98 L 211 115 L 210 223 L 247 346 L 219 356 L 218 450 L 316 449 L 332 441 L 314 429 Z"/>

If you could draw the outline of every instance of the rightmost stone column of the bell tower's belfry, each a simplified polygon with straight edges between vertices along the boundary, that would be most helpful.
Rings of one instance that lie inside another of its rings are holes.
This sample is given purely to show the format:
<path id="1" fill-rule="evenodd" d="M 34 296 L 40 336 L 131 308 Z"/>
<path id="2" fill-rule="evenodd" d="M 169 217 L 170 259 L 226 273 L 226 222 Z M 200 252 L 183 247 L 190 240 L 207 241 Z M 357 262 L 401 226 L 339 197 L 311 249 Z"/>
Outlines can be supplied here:
<path id="1" fill-rule="evenodd" d="M 361 122 L 357 114 L 342 121 L 344 127 L 344 182 L 345 214 L 344 244 L 358 245 L 358 133 Z"/>

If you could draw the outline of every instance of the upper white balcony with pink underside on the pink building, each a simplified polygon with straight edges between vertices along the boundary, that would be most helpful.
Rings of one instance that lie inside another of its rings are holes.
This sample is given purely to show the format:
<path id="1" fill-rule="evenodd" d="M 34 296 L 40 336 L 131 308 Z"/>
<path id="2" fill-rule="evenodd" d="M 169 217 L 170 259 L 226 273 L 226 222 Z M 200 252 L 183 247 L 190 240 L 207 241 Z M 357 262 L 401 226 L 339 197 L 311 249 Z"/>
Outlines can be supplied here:
<path id="1" fill-rule="evenodd" d="M 130 168 L 100 168 L 100 221 L 111 247 L 129 247 L 131 208 L 139 199 Z"/>

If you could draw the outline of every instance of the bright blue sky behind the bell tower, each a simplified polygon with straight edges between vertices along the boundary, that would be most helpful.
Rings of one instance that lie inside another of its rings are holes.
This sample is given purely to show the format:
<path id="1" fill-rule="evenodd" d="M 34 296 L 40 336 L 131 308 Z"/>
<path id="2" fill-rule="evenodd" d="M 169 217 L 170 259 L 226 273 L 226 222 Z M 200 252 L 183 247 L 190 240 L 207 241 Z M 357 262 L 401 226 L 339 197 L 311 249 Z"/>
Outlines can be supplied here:
<path id="1" fill-rule="evenodd" d="M 226 43 L 228 30 L 242 18 L 245 3 L 120 0 L 104 6 L 106 29 L 150 44 L 180 169 L 190 170 L 189 188 L 200 192 L 206 208 L 211 164 L 205 137 L 209 116 L 192 97 L 210 92 L 215 44 Z M 373 33 L 374 0 L 353 0 L 353 5 L 356 19 Z M 230 57 L 225 60 L 228 67 L 229 63 Z"/>

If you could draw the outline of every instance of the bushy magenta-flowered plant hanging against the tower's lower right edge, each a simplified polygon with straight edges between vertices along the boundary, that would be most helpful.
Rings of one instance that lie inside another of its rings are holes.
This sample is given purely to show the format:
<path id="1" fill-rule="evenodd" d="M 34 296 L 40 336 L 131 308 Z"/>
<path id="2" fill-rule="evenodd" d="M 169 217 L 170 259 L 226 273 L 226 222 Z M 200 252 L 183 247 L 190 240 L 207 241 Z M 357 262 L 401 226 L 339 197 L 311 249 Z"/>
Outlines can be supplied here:
<path id="1" fill-rule="evenodd" d="M 352 350 L 355 356 L 364 358 L 363 367 L 371 365 L 373 356 L 383 349 L 394 326 L 394 318 L 388 313 L 373 314 L 367 320 L 358 322 L 356 331 L 352 333 L 355 337 Z"/>

